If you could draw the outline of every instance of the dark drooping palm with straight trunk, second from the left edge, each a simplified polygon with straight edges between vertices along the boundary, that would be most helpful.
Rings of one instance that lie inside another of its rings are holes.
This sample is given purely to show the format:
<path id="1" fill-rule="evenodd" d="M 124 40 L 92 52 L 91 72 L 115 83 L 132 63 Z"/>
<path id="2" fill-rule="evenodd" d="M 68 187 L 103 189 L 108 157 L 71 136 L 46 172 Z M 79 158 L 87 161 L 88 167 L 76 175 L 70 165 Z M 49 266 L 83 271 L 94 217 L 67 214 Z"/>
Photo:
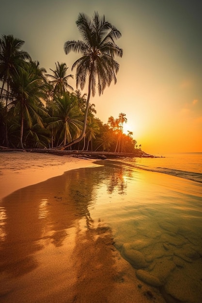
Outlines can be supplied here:
<path id="1" fill-rule="evenodd" d="M 20 116 L 20 147 L 23 146 L 24 123 L 28 128 L 32 127 L 32 123 L 36 122 L 42 128 L 44 124 L 42 116 L 47 116 L 47 112 L 41 98 L 46 96 L 46 83 L 40 76 L 41 71 L 35 71 L 36 65 L 27 62 L 24 68 L 18 68 L 18 72 L 13 76 L 11 88 L 15 100 L 11 103 L 15 106 L 15 115 Z"/>

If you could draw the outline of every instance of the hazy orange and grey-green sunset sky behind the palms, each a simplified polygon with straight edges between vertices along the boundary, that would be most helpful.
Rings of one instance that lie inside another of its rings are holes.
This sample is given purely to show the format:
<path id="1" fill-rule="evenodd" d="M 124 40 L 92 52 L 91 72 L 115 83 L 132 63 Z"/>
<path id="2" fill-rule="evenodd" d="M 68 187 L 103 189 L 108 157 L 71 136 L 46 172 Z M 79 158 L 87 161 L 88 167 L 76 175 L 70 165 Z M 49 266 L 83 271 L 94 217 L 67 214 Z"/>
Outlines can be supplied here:
<path id="1" fill-rule="evenodd" d="M 202 2 L 199 0 L 1 0 L 0 35 L 25 41 L 40 66 L 71 67 L 68 40 L 81 39 L 79 13 L 105 15 L 122 33 L 117 84 L 98 92 L 96 117 L 104 123 L 125 113 L 125 131 L 142 150 L 202 152 Z M 76 81 L 69 82 L 76 89 Z M 83 92 L 87 92 L 83 91 Z"/>

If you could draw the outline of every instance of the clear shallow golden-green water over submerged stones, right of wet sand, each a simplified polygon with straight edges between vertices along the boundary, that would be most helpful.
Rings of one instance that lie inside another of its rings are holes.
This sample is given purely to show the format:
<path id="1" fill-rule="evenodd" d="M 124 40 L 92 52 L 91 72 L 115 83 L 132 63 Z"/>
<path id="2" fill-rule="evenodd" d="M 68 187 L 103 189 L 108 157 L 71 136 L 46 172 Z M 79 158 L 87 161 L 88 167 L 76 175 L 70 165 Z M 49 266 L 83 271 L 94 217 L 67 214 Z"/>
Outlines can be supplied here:
<path id="1" fill-rule="evenodd" d="M 156 159 L 158 165 L 164 160 Z M 184 173 L 156 172 L 156 164 L 136 168 L 152 160 L 108 161 L 95 169 L 91 217 L 112 227 L 114 245 L 140 281 L 159 287 L 168 302 L 201 303 L 202 183 L 186 180 Z M 179 170 L 191 170 L 186 164 Z"/>

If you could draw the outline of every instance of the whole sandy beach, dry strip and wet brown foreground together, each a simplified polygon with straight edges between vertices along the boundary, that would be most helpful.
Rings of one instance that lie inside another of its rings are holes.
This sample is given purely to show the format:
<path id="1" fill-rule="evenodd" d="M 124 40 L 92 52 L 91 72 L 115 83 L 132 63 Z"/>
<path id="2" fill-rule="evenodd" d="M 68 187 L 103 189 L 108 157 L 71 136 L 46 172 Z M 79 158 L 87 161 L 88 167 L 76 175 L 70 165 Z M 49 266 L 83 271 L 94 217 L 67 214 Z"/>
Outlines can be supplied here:
<path id="1" fill-rule="evenodd" d="M 98 162 L 20 156 L 8 153 L 0 175 L 0 302 L 165 303 L 137 279 L 105 222 L 94 222 L 68 195 L 71 170 Z"/>

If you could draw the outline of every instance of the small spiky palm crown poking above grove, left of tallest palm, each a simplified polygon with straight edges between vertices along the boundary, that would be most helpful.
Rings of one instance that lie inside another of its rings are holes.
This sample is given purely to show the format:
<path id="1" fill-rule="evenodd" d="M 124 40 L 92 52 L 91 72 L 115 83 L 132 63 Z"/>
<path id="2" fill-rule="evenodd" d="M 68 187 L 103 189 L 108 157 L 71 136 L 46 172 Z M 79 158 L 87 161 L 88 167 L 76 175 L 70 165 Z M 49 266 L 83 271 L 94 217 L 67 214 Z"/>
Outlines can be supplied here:
<path id="1" fill-rule="evenodd" d="M 73 78 L 73 75 L 67 75 L 67 69 L 66 63 L 55 63 L 56 69 L 51 70 L 53 72 L 53 75 L 47 74 L 46 76 L 50 77 L 52 80 L 50 81 L 50 84 L 53 85 L 53 94 L 59 93 L 63 94 L 67 89 L 74 90 L 71 85 L 68 84 L 68 79 Z"/>

